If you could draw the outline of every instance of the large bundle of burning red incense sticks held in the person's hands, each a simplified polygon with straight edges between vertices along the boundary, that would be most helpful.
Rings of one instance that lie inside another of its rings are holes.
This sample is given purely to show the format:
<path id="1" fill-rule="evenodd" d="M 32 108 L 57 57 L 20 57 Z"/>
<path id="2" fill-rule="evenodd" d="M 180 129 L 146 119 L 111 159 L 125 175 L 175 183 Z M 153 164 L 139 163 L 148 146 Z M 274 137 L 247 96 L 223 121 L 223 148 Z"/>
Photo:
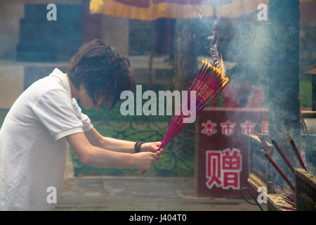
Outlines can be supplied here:
<path id="1" fill-rule="evenodd" d="M 225 77 L 225 69 L 223 58 L 220 56 L 220 68 L 215 67 L 207 62 L 207 60 L 202 60 L 202 68 L 199 70 L 197 77 L 195 77 L 194 82 L 190 86 L 190 89 L 187 91 L 187 99 L 183 101 L 182 107 L 178 109 L 178 112 L 173 117 L 171 124 L 169 125 L 162 143 L 159 146 L 159 151 L 161 148 L 164 148 L 181 130 L 183 130 L 187 123 L 183 122 L 183 119 L 188 117 L 188 115 L 183 115 L 181 113 L 181 108 L 187 108 L 190 104 L 190 96 L 192 91 L 195 91 L 195 115 L 200 113 L 206 105 L 208 105 L 215 96 L 217 96 L 220 91 L 228 84 L 229 79 Z M 142 172 L 145 173 L 145 170 Z"/>

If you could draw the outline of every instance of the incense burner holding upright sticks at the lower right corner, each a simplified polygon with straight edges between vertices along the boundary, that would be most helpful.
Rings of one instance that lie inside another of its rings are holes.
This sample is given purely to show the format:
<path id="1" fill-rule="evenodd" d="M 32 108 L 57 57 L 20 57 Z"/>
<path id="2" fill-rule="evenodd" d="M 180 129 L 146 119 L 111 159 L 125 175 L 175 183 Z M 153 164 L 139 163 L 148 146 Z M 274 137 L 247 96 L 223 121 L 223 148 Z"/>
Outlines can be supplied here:
<path id="1" fill-rule="evenodd" d="M 307 146 L 316 146 L 316 137 L 314 135 L 302 135 L 302 140 L 305 141 Z M 265 139 L 266 141 L 267 139 Z M 275 147 L 268 141 L 266 141 L 268 147 L 273 151 L 274 155 L 277 156 Z M 268 198 L 268 210 L 269 211 L 287 211 L 287 210 L 316 210 L 316 177 L 313 176 L 315 172 L 315 163 L 312 160 L 315 155 L 315 150 L 305 150 L 306 169 L 310 173 L 306 172 L 303 168 L 295 169 L 294 174 L 288 173 L 292 183 L 295 184 L 296 193 L 292 195 L 296 200 L 289 204 L 289 201 L 284 198 L 284 193 L 291 193 L 290 189 L 287 189 L 285 182 L 280 179 L 279 174 L 272 165 L 265 159 L 264 155 L 261 154 L 263 148 L 262 143 L 258 136 L 249 136 L 249 177 L 248 183 L 257 191 L 266 190 Z M 293 153 L 294 154 L 294 153 Z M 279 158 L 276 160 L 281 168 L 284 169 L 286 166 L 282 164 Z M 311 174 L 312 173 L 312 174 Z M 281 184 L 283 190 L 276 184 Z"/>

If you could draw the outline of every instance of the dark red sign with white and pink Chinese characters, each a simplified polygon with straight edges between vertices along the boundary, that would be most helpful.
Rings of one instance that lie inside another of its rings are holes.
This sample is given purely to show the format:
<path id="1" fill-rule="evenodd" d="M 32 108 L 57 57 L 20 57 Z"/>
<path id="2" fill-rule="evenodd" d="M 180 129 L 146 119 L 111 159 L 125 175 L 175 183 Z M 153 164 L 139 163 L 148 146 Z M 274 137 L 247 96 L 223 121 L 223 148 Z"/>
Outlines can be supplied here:
<path id="1" fill-rule="evenodd" d="M 205 108 L 197 123 L 197 195 L 241 198 L 241 188 L 250 188 L 249 135 L 268 134 L 268 109 Z"/>

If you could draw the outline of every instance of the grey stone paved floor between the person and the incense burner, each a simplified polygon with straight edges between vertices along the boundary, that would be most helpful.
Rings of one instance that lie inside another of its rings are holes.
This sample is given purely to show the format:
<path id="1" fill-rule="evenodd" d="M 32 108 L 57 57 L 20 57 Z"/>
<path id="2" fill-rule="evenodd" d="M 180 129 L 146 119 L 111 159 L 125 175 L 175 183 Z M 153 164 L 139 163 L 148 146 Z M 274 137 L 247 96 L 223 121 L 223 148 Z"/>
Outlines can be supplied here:
<path id="1" fill-rule="evenodd" d="M 193 178 L 72 174 L 72 164 L 67 161 L 62 195 L 55 210 L 260 210 L 242 199 L 198 198 Z"/>

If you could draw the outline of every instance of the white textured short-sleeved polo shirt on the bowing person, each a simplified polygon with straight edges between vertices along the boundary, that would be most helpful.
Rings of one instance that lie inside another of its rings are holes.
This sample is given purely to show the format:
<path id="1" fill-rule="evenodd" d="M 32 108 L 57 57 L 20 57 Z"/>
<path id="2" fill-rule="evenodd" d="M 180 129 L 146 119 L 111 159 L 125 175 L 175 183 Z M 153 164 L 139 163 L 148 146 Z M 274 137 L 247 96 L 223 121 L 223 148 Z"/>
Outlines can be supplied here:
<path id="1" fill-rule="evenodd" d="M 57 68 L 29 86 L 0 129 L 0 210 L 53 210 L 53 194 L 58 200 L 62 191 L 65 136 L 92 127 Z"/>

